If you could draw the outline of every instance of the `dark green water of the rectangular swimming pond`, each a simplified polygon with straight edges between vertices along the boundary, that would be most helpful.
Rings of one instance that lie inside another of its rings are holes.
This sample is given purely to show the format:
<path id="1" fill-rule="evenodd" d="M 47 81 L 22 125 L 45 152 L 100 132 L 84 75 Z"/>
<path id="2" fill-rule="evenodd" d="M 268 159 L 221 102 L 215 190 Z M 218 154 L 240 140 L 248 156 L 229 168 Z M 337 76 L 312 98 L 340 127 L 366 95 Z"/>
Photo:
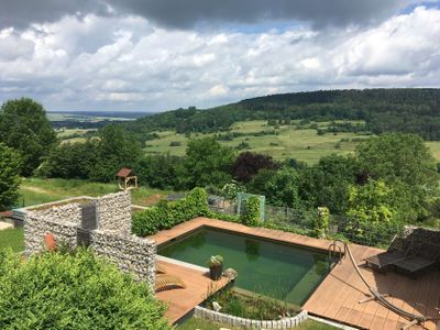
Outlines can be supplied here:
<path id="1" fill-rule="evenodd" d="M 299 306 L 331 268 L 327 253 L 209 228 L 161 245 L 158 254 L 199 266 L 220 254 L 224 268 L 239 273 L 237 287 Z"/>

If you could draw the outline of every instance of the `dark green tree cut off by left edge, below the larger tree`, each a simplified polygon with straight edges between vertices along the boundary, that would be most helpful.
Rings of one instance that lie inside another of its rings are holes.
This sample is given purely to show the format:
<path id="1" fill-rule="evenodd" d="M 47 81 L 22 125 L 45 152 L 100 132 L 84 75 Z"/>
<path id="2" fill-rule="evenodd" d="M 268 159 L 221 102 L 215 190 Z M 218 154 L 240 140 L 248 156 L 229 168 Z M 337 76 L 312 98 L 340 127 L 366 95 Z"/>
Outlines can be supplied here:
<path id="1" fill-rule="evenodd" d="M 0 143 L 0 211 L 19 198 L 20 165 L 19 154 Z"/>

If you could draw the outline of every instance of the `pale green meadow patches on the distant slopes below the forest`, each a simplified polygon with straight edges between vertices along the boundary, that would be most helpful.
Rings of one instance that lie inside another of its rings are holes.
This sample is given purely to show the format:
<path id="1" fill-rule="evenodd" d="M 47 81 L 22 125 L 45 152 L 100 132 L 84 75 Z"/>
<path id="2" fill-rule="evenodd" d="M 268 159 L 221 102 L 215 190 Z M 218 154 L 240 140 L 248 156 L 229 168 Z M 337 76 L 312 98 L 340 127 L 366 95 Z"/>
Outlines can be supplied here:
<path id="1" fill-rule="evenodd" d="M 362 123 L 361 121 L 337 121 Z M 175 131 L 157 131 L 160 138 L 145 141 L 144 151 L 146 154 L 169 153 L 170 155 L 184 156 L 190 139 L 213 136 L 217 134 L 240 133 L 242 136 L 233 138 L 231 141 L 219 140 L 221 144 L 235 147 L 240 151 L 268 154 L 275 160 L 296 158 L 308 164 L 316 164 L 320 157 L 337 154 L 352 153 L 359 142 L 372 135 L 365 133 L 338 132 L 318 135 L 316 127 L 326 129 L 330 122 L 310 122 L 299 124 L 293 121 L 289 125 L 270 127 L 267 121 L 253 120 L 237 122 L 230 131 L 221 133 L 194 133 L 189 138 L 178 134 Z M 89 130 L 62 129 L 57 130 L 62 143 L 82 143 L 86 138 L 78 135 Z M 262 134 L 262 132 L 270 134 Z M 261 134 L 255 136 L 255 134 Z M 72 138 L 69 138 L 72 136 Z M 174 145 L 173 145 L 174 144 Z M 176 145 L 177 144 L 177 145 Z M 240 147 L 241 145 L 241 147 Z M 432 154 L 440 161 L 440 141 L 429 141 L 427 145 Z"/>

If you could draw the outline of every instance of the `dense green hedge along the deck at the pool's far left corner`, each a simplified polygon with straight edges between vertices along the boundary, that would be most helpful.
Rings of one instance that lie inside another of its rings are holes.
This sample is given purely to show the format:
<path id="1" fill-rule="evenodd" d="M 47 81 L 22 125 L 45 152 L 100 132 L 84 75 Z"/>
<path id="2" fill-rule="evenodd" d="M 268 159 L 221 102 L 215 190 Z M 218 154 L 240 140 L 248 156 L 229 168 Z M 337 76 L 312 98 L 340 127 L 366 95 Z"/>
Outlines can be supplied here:
<path id="1" fill-rule="evenodd" d="M 160 201 L 155 207 L 133 215 L 132 231 L 139 237 L 169 229 L 197 217 L 209 216 L 208 194 L 194 188 L 186 198 L 177 201 Z"/>

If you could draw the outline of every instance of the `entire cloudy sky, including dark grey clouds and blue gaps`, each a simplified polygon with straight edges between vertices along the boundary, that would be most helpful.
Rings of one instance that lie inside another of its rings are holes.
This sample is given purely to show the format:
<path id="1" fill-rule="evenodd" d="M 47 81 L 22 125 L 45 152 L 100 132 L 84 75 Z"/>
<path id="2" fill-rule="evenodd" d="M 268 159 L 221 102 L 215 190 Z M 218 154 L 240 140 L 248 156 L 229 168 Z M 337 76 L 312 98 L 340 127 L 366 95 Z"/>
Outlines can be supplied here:
<path id="1" fill-rule="evenodd" d="M 0 103 L 164 111 L 440 87 L 440 0 L 0 0 Z"/>

